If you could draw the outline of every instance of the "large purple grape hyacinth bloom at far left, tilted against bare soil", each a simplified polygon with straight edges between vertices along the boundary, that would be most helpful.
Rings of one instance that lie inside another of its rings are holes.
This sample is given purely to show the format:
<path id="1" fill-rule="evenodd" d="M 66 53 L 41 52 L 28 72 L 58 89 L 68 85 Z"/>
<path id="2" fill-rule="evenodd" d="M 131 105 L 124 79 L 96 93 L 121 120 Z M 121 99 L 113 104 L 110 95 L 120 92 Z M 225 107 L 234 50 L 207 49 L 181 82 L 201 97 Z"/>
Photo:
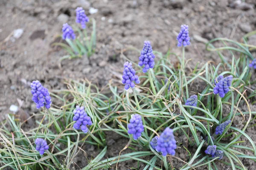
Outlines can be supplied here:
<path id="1" fill-rule="evenodd" d="M 38 81 L 33 81 L 30 85 L 31 87 L 31 93 L 32 93 L 32 100 L 36 104 L 36 108 L 42 108 L 46 107 L 49 109 L 52 104 L 52 98 L 50 97 L 50 94 L 48 92 L 47 88 L 44 88 L 44 86 Z"/>

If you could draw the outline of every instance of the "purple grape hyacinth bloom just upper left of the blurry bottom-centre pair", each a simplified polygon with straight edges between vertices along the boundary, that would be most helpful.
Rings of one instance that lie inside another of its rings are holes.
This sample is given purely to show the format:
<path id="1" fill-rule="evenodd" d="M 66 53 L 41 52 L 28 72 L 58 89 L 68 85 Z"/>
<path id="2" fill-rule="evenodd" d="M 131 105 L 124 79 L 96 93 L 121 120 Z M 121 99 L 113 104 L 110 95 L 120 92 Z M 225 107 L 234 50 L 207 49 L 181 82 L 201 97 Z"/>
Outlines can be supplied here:
<path id="1" fill-rule="evenodd" d="M 131 116 L 130 123 L 128 124 L 128 133 L 133 135 L 134 140 L 137 140 L 143 131 L 144 126 L 141 116 L 139 114 L 134 114 Z"/>

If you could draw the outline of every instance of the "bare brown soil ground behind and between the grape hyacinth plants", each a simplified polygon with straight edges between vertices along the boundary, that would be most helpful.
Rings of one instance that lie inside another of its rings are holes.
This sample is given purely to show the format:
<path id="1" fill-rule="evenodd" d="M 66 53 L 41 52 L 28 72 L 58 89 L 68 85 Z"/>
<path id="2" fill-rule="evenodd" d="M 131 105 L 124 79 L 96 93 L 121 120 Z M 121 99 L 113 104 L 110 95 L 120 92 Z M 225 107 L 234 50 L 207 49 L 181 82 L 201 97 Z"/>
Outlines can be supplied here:
<path id="1" fill-rule="evenodd" d="M 22 107 L 26 113 L 37 112 L 28 95 L 29 83 L 33 80 L 41 81 L 49 89 L 65 88 L 61 83 L 64 77 L 86 78 L 99 86 L 105 85 L 113 77 L 112 70 L 121 71 L 124 59 L 120 51 L 129 46 L 141 49 L 144 40 L 150 40 L 156 51 L 166 53 L 171 49 L 181 54 L 176 36 L 182 24 L 189 25 L 192 39 L 186 48 L 186 58 L 192 59 L 190 66 L 193 68 L 198 61 L 217 63 L 216 54 L 206 51 L 197 37 L 207 40 L 227 37 L 240 41 L 244 34 L 256 29 L 256 1 L 246 0 L 246 3 L 244 7 L 235 0 L 1 0 L 0 120 L 5 119 L 10 105 L 18 105 L 17 98 L 24 100 Z M 56 37 L 61 34 L 63 23 L 75 24 L 78 6 L 86 10 L 88 17 L 96 19 L 96 53 L 90 59 L 66 59 L 60 63 L 58 59 L 66 54 L 59 48 L 52 48 L 51 44 L 59 41 Z M 99 11 L 89 14 L 90 7 Z M 24 33 L 15 40 L 12 33 L 18 28 Z M 256 42 L 256 37 L 250 41 Z M 133 52 L 125 55 L 133 61 L 138 59 L 138 54 Z M 254 132 L 255 127 L 248 130 Z M 251 137 L 256 140 L 255 133 Z M 124 140 L 114 139 L 120 146 L 110 146 L 108 155 L 116 156 L 126 143 Z M 183 157 L 184 152 L 180 149 L 175 156 Z M 88 151 L 89 155 L 96 153 Z M 256 165 L 247 159 L 242 161 L 250 170 Z M 173 160 L 173 164 L 180 166 L 177 160 Z M 120 166 L 121 169 L 136 167 L 137 162 Z M 219 166 L 220 169 L 230 168 Z"/>

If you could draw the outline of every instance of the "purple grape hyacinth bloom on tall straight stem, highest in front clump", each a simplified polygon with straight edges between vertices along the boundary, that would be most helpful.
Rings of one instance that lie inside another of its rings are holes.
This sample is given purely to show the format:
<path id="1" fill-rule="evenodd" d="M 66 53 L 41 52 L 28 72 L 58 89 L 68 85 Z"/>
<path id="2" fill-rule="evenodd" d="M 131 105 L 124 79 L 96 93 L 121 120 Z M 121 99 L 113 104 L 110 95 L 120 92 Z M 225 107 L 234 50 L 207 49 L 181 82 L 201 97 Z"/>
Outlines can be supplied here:
<path id="1" fill-rule="evenodd" d="M 186 47 L 187 45 L 190 45 L 190 37 L 189 37 L 189 26 L 187 25 L 181 25 L 180 33 L 177 36 L 178 40 L 178 47 Z"/>

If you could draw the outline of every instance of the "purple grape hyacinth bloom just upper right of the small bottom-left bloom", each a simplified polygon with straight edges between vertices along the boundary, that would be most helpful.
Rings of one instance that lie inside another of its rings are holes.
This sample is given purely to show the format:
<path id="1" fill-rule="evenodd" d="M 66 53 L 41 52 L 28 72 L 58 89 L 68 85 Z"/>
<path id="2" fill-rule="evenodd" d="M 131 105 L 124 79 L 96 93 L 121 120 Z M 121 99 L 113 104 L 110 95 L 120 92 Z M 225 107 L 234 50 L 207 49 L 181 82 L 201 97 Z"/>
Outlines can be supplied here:
<path id="1" fill-rule="evenodd" d="M 87 133 L 87 125 L 92 125 L 93 122 L 91 121 L 91 118 L 87 116 L 87 113 L 84 111 L 84 106 L 79 107 L 79 105 L 77 105 L 73 113 L 75 114 L 73 120 L 76 121 L 76 123 L 73 125 L 74 129 L 79 130 L 81 128 L 81 130 L 84 133 Z"/>

